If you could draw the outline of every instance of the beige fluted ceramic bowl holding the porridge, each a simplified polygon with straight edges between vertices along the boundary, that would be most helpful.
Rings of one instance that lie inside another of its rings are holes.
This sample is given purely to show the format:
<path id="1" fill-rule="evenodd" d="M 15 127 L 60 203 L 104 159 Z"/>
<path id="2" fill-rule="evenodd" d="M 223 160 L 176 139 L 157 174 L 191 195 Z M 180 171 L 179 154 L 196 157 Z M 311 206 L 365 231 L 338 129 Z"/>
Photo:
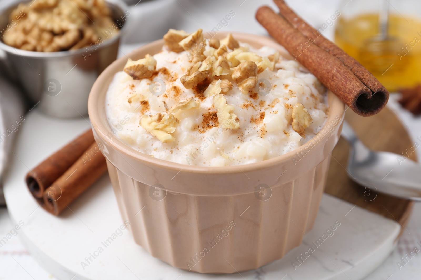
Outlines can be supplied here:
<path id="1" fill-rule="evenodd" d="M 233 36 L 253 47 L 285 52 L 268 37 Z M 144 58 L 162 46 L 163 40 L 158 40 L 128 57 Z M 101 73 L 88 110 L 121 215 L 130 221 L 136 243 L 174 267 L 201 273 L 255 269 L 300 245 L 317 216 L 344 104 L 330 92 L 322 131 L 288 154 L 248 165 L 181 165 L 142 154 L 112 133 L 105 94 L 126 60 L 116 60 Z"/>

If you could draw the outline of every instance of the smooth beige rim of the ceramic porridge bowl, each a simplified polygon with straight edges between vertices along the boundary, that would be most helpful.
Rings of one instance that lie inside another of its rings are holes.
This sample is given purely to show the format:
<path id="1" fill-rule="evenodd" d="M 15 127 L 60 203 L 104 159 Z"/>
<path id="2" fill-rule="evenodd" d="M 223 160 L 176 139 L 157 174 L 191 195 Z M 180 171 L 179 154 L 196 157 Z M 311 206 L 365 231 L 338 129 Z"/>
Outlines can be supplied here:
<path id="1" fill-rule="evenodd" d="M 276 44 L 279 49 L 283 49 L 283 47 L 278 44 L 274 39 L 267 36 L 257 35 L 257 34 L 248 34 L 248 33 L 242 33 L 242 32 L 218 32 L 216 34 L 216 37 L 225 37 L 227 34 L 231 33 L 233 37 L 237 38 L 245 38 L 245 37 L 251 37 L 251 39 L 255 39 L 255 44 L 260 45 L 261 47 L 266 46 L 266 43 L 270 43 L 272 45 Z M 241 39 L 239 39 L 241 41 Z M 102 92 L 103 85 L 108 84 L 111 82 L 110 77 L 113 77 L 115 73 L 118 71 L 122 71 L 126 60 L 128 57 L 136 57 L 139 56 L 139 52 L 142 52 L 144 49 L 147 48 L 156 48 L 156 52 L 159 52 L 162 49 L 162 46 L 164 44 L 163 39 L 159 39 L 153 42 L 150 42 L 149 44 L 145 44 L 136 50 L 133 50 L 132 52 L 128 53 L 126 56 L 123 56 L 117 60 L 115 60 L 112 64 L 110 64 L 96 79 L 95 83 L 93 84 L 91 88 L 91 92 L 89 94 L 88 99 L 88 114 L 89 118 L 91 120 L 91 126 L 94 130 L 94 135 L 98 136 L 99 139 L 97 139 L 97 143 L 101 143 L 101 141 L 105 140 L 105 143 L 107 143 L 107 146 L 111 146 L 115 150 L 117 150 L 118 153 L 125 154 L 128 157 L 131 157 L 133 160 L 141 161 L 144 164 L 147 164 L 149 166 L 157 166 L 161 168 L 165 168 L 167 170 L 174 170 L 177 172 L 180 172 L 183 170 L 184 173 L 200 173 L 200 174 L 227 174 L 227 173 L 246 173 L 250 171 L 255 170 L 261 170 L 266 169 L 268 167 L 272 167 L 275 165 L 280 165 L 282 163 L 286 163 L 287 160 L 292 160 L 293 157 L 296 156 L 297 152 L 306 149 L 310 147 L 316 146 L 317 144 L 320 144 L 324 141 L 327 141 L 330 136 L 333 136 L 333 132 L 335 129 L 328 130 L 328 133 L 322 134 L 323 131 L 326 131 L 327 126 L 330 124 L 330 121 L 333 120 L 333 117 L 337 115 L 340 119 L 338 120 L 338 125 L 341 125 L 341 122 L 343 120 L 344 114 L 345 114 L 345 104 L 330 90 L 327 90 L 327 98 L 328 98 L 328 117 L 325 120 L 325 123 L 323 124 L 322 128 L 320 129 L 319 133 L 317 133 L 312 139 L 307 141 L 304 145 L 301 145 L 297 149 L 294 149 L 293 151 L 290 151 L 286 154 L 281 154 L 277 157 L 273 157 L 268 160 L 262 160 L 260 162 L 253 162 L 249 164 L 242 164 L 242 165 L 229 165 L 229 166 L 223 166 L 223 167 L 210 167 L 210 166 L 197 166 L 197 165 L 184 165 L 181 163 L 176 162 L 170 162 L 167 160 L 162 160 L 159 158 L 151 157 L 147 154 L 144 154 L 140 151 L 137 151 L 136 149 L 133 149 L 132 147 L 128 146 L 127 144 L 123 143 L 122 140 L 120 140 L 115 134 L 112 133 L 110 129 L 110 125 L 107 120 L 102 120 L 100 117 L 99 111 L 101 110 L 102 104 L 105 105 L 105 98 L 104 101 L 101 103 L 99 101 L 100 97 L 105 97 L 105 94 L 107 92 L 107 89 L 104 89 L 105 92 Z M 154 54 L 155 54 L 154 53 Z M 116 71 L 117 70 L 117 71 Z M 109 81 L 109 83 L 107 83 Z M 107 135 L 112 135 L 111 138 L 107 138 Z M 316 139 L 319 139 L 316 141 Z M 101 140 L 101 141 L 98 141 Z M 105 157 L 107 157 L 107 154 L 104 154 Z M 321 159 L 322 160 L 322 159 Z"/>

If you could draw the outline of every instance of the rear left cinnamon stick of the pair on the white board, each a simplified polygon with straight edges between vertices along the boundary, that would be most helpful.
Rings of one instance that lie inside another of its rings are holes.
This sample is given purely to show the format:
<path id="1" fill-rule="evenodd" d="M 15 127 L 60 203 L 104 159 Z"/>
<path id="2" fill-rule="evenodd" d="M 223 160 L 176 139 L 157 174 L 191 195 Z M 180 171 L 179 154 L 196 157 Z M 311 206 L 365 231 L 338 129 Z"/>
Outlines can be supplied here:
<path id="1" fill-rule="evenodd" d="M 94 143 L 92 129 L 41 162 L 25 178 L 31 194 L 42 205 L 45 188 L 57 180 Z"/>

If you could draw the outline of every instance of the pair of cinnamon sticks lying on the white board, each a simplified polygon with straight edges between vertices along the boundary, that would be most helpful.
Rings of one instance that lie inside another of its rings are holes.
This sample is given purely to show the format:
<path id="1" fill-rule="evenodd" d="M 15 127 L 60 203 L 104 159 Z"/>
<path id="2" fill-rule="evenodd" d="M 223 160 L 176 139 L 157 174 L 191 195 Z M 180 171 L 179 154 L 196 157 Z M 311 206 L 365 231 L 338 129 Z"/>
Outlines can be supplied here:
<path id="1" fill-rule="evenodd" d="M 25 181 L 37 202 L 58 216 L 106 171 L 89 129 L 29 171 Z"/>

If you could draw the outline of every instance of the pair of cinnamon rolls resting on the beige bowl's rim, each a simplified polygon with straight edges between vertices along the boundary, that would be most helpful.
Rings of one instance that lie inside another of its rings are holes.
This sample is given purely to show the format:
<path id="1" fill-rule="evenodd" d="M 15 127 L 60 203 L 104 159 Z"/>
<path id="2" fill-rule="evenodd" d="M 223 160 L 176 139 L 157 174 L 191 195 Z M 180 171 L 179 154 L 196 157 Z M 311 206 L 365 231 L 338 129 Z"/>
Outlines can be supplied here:
<path id="1" fill-rule="evenodd" d="M 257 21 L 355 113 L 370 116 L 380 112 L 389 100 L 387 89 L 357 60 L 299 18 L 283 0 L 280 9 L 257 10 Z"/>

